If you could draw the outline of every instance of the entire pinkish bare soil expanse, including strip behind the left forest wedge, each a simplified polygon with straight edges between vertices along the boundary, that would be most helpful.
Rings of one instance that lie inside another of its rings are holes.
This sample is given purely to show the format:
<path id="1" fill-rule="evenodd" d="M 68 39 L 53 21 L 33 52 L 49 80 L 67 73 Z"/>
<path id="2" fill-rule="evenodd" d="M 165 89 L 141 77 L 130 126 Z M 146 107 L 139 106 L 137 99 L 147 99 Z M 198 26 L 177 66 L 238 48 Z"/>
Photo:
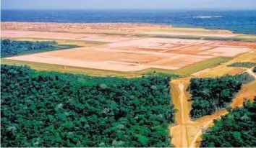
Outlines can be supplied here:
<path id="1" fill-rule="evenodd" d="M 156 68 L 178 70 L 215 57 L 234 57 L 252 50 L 253 42 L 223 42 L 210 40 L 185 40 L 156 37 L 121 37 L 106 34 L 81 34 L 65 32 L 31 32 L 4 30 L 1 37 L 39 38 L 63 42 L 88 42 L 95 45 L 71 50 L 43 52 L 33 55 L 8 57 L 35 63 L 74 66 L 131 72 Z M 65 41 L 66 40 L 66 41 Z M 98 45 L 97 45 L 98 44 Z"/>

